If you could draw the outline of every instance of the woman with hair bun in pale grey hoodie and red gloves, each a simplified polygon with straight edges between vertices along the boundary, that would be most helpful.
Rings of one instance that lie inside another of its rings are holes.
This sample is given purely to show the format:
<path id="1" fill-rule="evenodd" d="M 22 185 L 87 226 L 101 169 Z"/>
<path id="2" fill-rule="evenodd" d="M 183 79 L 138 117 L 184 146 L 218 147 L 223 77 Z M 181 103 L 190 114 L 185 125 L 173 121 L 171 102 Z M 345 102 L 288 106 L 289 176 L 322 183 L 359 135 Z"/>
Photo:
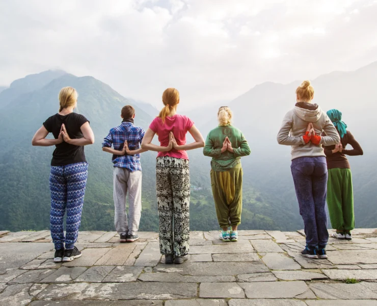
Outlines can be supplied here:
<path id="1" fill-rule="evenodd" d="M 339 134 L 326 112 L 312 104 L 314 89 L 304 81 L 296 90 L 297 104 L 284 117 L 278 143 L 292 146 L 291 172 L 303 217 L 306 248 L 303 256 L 327 258 L 327 164 L 322 145 L 338 144 Z M 322 132 L 326 136 L 320 136 Z"/>

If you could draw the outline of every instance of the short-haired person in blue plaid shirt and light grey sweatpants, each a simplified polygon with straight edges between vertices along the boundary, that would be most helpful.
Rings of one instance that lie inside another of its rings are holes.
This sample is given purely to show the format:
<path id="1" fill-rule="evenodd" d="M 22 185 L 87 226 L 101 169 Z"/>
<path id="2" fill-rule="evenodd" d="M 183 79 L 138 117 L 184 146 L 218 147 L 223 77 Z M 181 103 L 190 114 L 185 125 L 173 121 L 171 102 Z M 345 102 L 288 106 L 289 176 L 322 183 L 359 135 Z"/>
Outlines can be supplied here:
<path id="1" fill-rule="evenodd" d="M 110 130 L 102 142 L 102 150 L 113 154 L 114 163 L 114 206 L 115 228 L 120 242 L 133 242 L 139 239 L 138 230 L 141 217 L 142 169 L 140 154 L 147 150 L 140 144 L 144 137 L 142 127 L 133 124 L 135 110 L 126 105 L 122 108 L 121 125 Z M 112 148 L 111 146 L 114 146 Z M 126 196 L 128 191 L 128 218 Z"/>

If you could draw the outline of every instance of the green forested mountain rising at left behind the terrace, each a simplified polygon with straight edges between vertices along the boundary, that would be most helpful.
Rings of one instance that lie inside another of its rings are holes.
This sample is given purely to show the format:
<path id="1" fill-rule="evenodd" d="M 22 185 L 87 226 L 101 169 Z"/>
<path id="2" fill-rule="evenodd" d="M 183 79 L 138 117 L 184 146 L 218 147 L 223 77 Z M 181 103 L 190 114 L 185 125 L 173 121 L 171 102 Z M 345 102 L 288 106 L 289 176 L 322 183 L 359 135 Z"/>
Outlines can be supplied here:
<path id="1" fill-rule="evenodd" d="M 48 176 L 53 147 L 33 147 L 31 139 L 43 121 L 57 112 L 60 89 L 72 86 L 79 93 L 76 111 L 90 120 L 96 137 L 95 144 L 85 148 L 89 177 L 81 228 L 111 231 L 114 228 L 113 167 L 111 155 L 101 150 L 102 139 L 111 127 L 120 124 L 120 110 L 124 105 L 132 104 L 136 108 L 135 123 L 145 128 L 153 118 L 154 108 L 126 99 L 92 77 L 77 78 L 61 71 L 41 74 L 43 78 L 36 74 L 13 82 L 11 88 L 0 93 L 0 101 L 3 101 L 0 114 L 0 228 L 12 231 L 48 228 Z M 46 75 L 50 76 L 50 82 L 46 81 Z M 35 87 L 25 84 L 34 84 Z M 158 111 L 155 111 L 157 114 Z M 203 157 L 201 150 L 189 152 L 189 155 L 193 185 L 191 229 L 216 229 L 217 218 L 209 189 L 209 159 Z M 144 231 L 158 229 L 155 157 L 154 152 L 142 155 L 143 211 L 140 228 Z M 290 222 L 283 222 L 289 216 Z M 292 230 L 300 227 L 299 222 L 297 214 L 275 208 L 273 198 L 261 196 L 250 183 L 245 184 L 243 228 Z"/>

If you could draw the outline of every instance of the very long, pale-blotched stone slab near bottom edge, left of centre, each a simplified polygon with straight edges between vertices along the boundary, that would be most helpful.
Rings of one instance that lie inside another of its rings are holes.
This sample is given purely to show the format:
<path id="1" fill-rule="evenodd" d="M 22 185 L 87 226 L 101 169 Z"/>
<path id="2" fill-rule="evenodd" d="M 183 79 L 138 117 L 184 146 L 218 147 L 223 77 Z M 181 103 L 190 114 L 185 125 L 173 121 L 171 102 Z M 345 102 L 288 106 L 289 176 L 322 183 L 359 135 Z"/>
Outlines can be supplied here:
<path id="1" fill-rule="evenodd" d="M 37 295 L 51 300 L 178 299 L 197 296 L 192 283 L 75 283 L 52 284 Z"/>

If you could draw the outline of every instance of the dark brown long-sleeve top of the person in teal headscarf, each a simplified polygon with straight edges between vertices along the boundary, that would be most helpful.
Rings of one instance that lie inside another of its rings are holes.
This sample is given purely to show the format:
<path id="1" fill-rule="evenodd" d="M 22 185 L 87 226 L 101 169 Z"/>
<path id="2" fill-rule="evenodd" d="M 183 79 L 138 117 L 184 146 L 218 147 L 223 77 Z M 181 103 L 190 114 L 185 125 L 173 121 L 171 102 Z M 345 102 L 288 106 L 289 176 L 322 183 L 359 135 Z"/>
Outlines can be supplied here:
<path id="1" fill-rule="evenodd" d="M 323 134 L 322 134 L 323 135 Z M 347 131 L 347 133 L 340 139 L 340 142 L 343 146 L 341 152 L 333 153 L 333 149 L 335 149 L 335 145 L 328 145 L 323 146 L 325 149 L 326 161 L 327 161 L 327 168 L 334 169 L 334 168 L 348 168 L 349 166 L 348 160 L 345 157 L 346 155 L 349 156 L 357 156 L 363 155 L 363 149 L 361 148 L 360 144 L 355 140 L 354 135 L 351 132 Z M 346 145 L 350 144 L 352 146 L 352 150 L 345 149 Z"/>

